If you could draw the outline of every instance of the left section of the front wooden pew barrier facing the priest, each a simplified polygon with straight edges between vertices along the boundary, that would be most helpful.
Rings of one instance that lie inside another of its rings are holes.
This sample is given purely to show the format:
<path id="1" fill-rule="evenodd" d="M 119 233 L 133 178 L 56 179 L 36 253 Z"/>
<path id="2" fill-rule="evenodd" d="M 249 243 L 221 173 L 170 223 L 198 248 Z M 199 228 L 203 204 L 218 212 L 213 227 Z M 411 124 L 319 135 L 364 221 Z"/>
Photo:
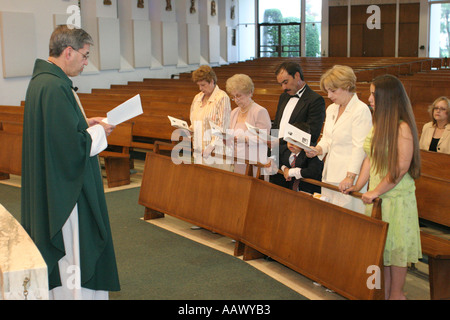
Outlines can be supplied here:
<path id="1" fill-rule="evenodd" d="M 170 157 L 149 152 L 139 203 L 145 206 L 146 220 L 169 214 L 240 240 L 251 185 L 247 176 L 201 165 L 175 165 Z M 211 197 L 215 194 L 218 197 Z"/>

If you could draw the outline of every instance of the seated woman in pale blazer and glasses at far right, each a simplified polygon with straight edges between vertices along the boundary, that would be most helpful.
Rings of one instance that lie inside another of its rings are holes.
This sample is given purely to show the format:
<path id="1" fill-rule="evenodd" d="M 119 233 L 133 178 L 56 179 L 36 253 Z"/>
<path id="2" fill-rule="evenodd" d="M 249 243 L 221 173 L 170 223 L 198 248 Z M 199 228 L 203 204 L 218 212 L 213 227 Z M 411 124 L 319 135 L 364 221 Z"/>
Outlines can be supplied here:
<path id="1" fill-rule="evenodd" d="M 420 149 L 450 154 L 450 100 L 447 97 L 437 98 L 428 112 L 431 121 L 423 126 Z"/>

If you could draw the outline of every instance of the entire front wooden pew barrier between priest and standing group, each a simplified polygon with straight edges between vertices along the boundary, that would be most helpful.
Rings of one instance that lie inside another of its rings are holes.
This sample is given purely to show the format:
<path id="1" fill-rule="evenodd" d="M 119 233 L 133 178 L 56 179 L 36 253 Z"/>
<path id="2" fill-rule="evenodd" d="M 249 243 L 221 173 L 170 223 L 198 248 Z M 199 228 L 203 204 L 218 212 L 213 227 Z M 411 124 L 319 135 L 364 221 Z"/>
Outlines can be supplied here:
<path id="1" fill-rule="evenodd" d="M 233 201 L 230 201 L 233 200 Z M 383 299 L 387 223 L 259 179 L 147 153 L 139 203 L 245 244 L 350 299 Z M 282 204 L 282 205 L 280 205 Z M 236 246 L 235 254 L 240 254 Z M 368 288 L 379 268 L 378 289 Z"/>

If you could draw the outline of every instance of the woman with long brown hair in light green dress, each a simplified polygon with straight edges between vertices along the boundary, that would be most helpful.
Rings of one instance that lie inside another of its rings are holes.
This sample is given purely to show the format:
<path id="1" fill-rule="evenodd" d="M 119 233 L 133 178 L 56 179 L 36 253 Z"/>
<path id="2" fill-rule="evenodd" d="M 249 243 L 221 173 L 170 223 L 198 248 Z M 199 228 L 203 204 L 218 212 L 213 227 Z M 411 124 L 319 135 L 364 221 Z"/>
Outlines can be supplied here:
<path id="1" fill-rule="evenodd" d="M 415 182 L 420 176 L 420 151 L 411 103 L 394 76 L 377 77 L 370 86 L 373 128 L 366 138 L 366 158 L 355 185 L 345 192 L 363 194 L 370 215 L 372 201 L 382 199 L 383 221 L 389 223 L 384 250 L 386 299 L 405 299 L 407 264 L 422 257 Z"/>

